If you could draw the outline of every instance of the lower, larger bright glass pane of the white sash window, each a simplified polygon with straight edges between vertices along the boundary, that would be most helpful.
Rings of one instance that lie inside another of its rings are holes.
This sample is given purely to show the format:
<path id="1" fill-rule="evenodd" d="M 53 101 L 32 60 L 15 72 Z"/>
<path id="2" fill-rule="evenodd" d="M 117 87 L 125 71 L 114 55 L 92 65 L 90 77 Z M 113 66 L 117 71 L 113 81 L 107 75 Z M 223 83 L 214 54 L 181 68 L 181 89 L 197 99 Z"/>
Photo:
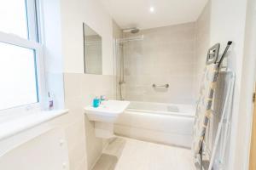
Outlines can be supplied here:
<path id="1" fill-rule="evenodd" d="M 38 102 L 35 52 L 0 42 L 0 110 Z"/>

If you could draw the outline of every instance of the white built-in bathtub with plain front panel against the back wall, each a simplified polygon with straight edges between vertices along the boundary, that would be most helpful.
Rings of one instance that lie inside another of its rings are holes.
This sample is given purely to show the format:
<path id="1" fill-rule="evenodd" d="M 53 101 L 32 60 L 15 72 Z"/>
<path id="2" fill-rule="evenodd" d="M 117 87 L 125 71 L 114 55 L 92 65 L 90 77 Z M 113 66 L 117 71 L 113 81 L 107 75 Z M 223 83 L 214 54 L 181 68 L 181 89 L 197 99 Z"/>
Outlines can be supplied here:
<path id="1" fill-rule="evenodd" d="M 195 106 L 131 101 L 114 133 L 134 139 L 190 148 Z"/>

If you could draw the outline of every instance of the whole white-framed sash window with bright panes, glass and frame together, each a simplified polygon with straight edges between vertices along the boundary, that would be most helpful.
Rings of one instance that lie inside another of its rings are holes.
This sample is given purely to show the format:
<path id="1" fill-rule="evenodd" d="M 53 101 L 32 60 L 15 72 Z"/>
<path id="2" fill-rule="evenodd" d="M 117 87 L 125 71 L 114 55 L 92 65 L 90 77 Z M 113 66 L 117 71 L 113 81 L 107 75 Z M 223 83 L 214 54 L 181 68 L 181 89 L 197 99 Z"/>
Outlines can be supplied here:
<path id="1" fill-rule="evenodd" d="M 43 59 L 36 9 L 36 0 L 8 0 L 0 6 L 0 110 L 39 105 L 44 81 L 38 77 Z"/>

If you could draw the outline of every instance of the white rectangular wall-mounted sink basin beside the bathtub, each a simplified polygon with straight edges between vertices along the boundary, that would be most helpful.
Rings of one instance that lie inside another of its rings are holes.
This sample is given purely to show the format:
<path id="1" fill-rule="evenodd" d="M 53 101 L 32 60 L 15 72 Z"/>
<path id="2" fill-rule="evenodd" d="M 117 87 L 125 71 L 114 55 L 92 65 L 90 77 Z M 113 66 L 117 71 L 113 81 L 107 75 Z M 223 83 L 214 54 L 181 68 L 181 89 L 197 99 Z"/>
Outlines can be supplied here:
<path id="1" fill-rule="evenodd" d="M 97 108 L 88 105 L 84 108 L 84 111 L 90 121 L 114 122 L 129 104 L 129 101 L 108 100 L 102 101 L 102 104 Z"/>

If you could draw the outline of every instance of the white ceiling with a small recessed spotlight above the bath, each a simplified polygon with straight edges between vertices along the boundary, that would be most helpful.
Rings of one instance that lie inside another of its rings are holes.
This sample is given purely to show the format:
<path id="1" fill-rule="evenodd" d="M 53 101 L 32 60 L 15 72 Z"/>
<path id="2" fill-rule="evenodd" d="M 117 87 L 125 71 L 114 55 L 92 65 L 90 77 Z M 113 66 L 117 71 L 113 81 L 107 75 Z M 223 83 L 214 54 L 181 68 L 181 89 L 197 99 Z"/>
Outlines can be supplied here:
<path id="1" fill-rule="evenodd" d="M 195 21 L 207 0 L 99 0 L 121 28 L 148 29 Z M 149 8 L 154 7 L 154 13 Z"/>

